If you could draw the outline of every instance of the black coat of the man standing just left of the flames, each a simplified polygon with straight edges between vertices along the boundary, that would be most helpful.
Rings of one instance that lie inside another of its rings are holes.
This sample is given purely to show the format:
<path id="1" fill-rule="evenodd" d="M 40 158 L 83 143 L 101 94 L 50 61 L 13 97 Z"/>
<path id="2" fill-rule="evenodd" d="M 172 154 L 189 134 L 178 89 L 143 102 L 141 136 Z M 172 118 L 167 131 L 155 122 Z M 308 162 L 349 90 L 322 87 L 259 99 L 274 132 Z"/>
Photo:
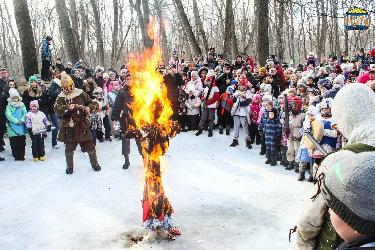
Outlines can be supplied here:
<path id="1" fill-rule="evenodd" d="M 129 108 L 132 102 L 133 96 L 130 94 L 129 87 L 124 84 L 124 86 L 118 90 L 111 114 L 112 121 L 120 121 L 122 133 L 125 133 L 130 125 L 135 126 L 135 122 L 131 118 L 133 116 L 133 110 Z M 123 113 L 120 117 L 121 111 Z"/>

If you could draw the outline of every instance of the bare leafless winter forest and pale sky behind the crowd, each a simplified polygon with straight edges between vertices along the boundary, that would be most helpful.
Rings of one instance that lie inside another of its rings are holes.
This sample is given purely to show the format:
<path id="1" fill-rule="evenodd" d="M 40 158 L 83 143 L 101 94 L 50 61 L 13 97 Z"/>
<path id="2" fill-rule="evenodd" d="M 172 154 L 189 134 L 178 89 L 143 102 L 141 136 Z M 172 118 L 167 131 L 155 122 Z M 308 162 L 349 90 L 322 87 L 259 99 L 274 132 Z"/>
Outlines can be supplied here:
<path id="1" fill-rule="evenodd" d="M 164 61 L 174 49 L 193 58 L 209 46 L 224 58 L 242 54 L 261 64 L 269 54 L 282 62 L 294 58 L 296 65 L 309 51 L 353 56 L 372 46 L 375 33 L 374 23 L 362 36 L 344 31 L 344 14 L 357 4 L 374 10 L 369 0 L 2 0 L 0 63 L 14 79 L 27 79 L 24 68 L 27 75 L 39 71 L 42 41 L 51 36 L 52 57 L 64 65 L 82 59 L 117 69 L 129 52 L 150 46 L 152 18 L 160 27 Z"/>

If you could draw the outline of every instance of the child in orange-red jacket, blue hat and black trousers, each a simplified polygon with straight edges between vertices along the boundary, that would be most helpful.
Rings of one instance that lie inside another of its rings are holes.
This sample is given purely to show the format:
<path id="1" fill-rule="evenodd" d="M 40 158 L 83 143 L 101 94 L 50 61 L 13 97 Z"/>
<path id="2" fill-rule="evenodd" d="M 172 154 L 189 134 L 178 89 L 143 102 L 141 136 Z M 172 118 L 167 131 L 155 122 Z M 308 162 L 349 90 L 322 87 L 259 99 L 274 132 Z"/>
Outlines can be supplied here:
<path id="1" fill-rule="evenodd" d="M 232 95 L 234 93 L 234 88 L 228 86 L 225 93 L 219 97 L 220 109 L 217 112 L 220 112 L 219 116 L 219 134 L 223 133 L 223 127 L 226 127 L 226 135 L 229 135 L 229 130 L 231 129 L 231 111 L 233 107 Z"/>

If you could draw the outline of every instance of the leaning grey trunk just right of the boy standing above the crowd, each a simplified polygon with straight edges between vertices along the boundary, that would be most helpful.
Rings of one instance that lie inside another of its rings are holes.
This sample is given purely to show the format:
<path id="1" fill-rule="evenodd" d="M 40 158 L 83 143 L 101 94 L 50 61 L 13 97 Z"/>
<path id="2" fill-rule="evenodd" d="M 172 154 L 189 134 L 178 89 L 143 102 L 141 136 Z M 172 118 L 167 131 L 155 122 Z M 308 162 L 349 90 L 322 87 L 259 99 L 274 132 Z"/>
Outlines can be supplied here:
<path id="1" fill-rule="evenodd" d="M 62 28 L 62 35 L 64 37 L 65 48 L 68 50 L 68 58 L 72 63 L 80 60 L 80 46 L 77 37 L 74 35 L 71 23 L 69 22 L 68 9 L 66 8 L 65 0 L 55 0 L 58 18 Z"/>

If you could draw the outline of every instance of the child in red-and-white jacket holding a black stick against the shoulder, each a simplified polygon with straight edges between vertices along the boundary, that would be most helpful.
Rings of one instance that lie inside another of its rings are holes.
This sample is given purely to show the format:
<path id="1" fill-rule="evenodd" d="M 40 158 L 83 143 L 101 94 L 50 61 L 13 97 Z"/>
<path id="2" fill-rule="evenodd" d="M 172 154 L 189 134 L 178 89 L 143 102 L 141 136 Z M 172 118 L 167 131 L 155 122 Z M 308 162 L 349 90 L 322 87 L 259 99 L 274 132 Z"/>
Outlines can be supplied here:
<path id="1" fill-rule="evenodd" d="M 211 80 L 213 77 L 213 70 L 209 70 L 207 76 L 205 78 L 204 84 L 206 87 L 204 91 L 202 91 L 202 116 L 201 120 L 199 121 L 198 132 L 195 135 L 200 135 L 203 132 L 204 123 L 208 117 L 208 137 L 212 136 L 212 130 L 215 126 L 215 110 L 217 109 L 217 100 L 219 99 L 219 88 L 216 87 L 215 82 L 213 82 L 210 95 L 208 94 L 208 89 L 211 84 Z"/>

